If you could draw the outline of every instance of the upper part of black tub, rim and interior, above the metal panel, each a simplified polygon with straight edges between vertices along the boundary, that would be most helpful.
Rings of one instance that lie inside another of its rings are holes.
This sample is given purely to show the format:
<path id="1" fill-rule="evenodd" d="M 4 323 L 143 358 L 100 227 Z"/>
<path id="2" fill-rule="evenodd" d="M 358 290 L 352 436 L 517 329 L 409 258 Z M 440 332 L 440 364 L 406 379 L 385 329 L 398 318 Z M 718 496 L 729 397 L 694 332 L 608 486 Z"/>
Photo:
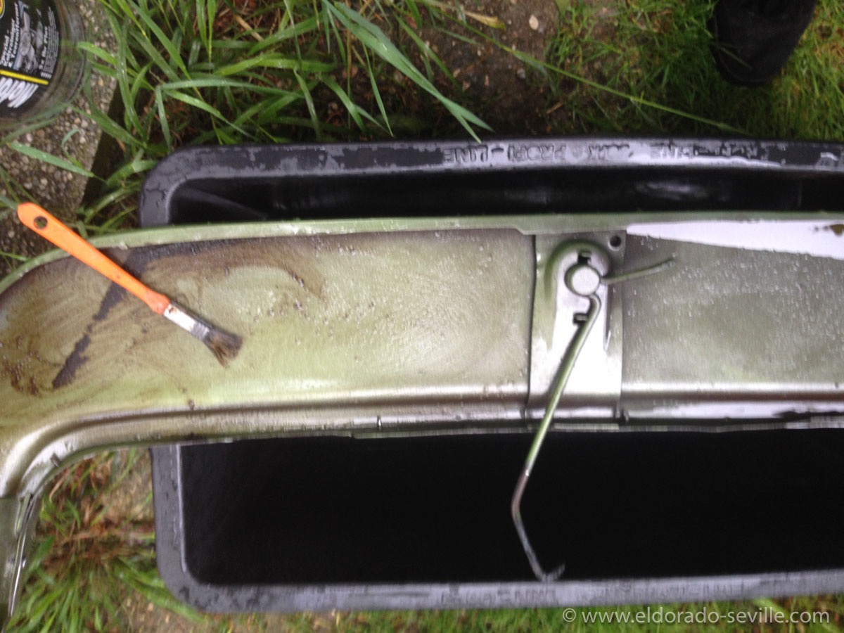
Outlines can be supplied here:
<path id="1" fill-rule="evenodd" d="M 844 208 L 834 143 L 522 138 L 195 148 L 143 187 L 140 225 L 261 219 Z"/>

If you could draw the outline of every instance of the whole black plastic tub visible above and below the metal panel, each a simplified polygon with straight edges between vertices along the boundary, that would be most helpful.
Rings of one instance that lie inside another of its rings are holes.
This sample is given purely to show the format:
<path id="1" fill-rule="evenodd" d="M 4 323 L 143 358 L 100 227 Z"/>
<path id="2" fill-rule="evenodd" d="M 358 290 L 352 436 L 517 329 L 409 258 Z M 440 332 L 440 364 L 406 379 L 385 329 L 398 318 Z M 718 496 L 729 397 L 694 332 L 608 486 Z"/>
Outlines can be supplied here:
<path id="1" fill-rule="evenodd" d="M 844 209 L 844 147 L 529 138 L 199 148 L 143 189 L 143 226 L 258 219 Z M 215 611 L 652 603 L 844 589 L 835 430 L 549 439 L 262 439 L 152 450 L 158 562 Z M 636 445 L 636 452 L 630 446 Z M 547 482 L 548 490 L 541 490 Z M 553 507 L 540 499 L 557 499 Z M 796 505 L 795 505 L 796 504 Z"/>

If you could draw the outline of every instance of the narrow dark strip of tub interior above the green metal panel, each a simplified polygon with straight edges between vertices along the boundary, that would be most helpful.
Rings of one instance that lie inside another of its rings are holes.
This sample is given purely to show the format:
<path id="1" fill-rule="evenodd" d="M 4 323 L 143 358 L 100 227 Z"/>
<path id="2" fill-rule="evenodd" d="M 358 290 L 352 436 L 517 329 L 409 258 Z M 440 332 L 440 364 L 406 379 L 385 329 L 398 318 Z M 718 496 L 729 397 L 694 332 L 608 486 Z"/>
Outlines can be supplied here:
<path id="1" fill-rule="evenodd" d="M 192 180 L 170 224 L 717 209 L 840 209 L 844 179 L 728 170 L 530 170 Z M 146 225 L 143 222 L 142 225 Z"/>

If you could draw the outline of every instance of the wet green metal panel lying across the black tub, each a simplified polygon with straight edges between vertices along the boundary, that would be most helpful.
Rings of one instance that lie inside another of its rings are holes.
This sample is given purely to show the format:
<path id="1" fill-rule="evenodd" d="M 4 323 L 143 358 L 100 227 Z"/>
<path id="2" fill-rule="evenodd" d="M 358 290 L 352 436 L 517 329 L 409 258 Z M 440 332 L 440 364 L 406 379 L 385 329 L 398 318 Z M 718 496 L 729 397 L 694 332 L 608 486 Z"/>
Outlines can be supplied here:
<path id="1" fill-rule="evenodd" d="M 558 417 L 582 403 L 612 422 L 841 408 L 844 262 L 635 235 L 613 251 L 625 219 L 218 226 L 106 241 L 129 272 L 244 338 L 228 368 L 51 256 L 0 294 L 0 492 L 34 492 L 52 462 L 110 443 L 537 419 L 577 310 L 545 284 L 544 258 L 584 235 L 613 253 L 610 275 L 676 265 L 606 294 Z"/>

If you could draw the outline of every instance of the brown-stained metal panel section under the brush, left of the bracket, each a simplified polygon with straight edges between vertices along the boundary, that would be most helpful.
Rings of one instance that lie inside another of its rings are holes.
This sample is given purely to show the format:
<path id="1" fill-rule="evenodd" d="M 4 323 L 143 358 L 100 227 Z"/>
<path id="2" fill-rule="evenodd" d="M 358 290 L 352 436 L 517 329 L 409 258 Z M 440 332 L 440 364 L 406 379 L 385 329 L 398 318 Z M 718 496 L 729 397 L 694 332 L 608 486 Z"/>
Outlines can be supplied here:
<path id="1" fill-rule="evenodd" d="M 527 394 L 533 249 L 516 231 L 292 235 L 111 254 L 241 335 L 241 354 L 223 368 L 106 279 L 51 262 L 0 297 L 6 446 L 24 434 L 31 451 L 35 437 L 67 425 L 152 412 L 441 398 L 518 410 Z M 35 419 L 40 431 L 29 428 Z M 8 461 L 0 473 L 8 495 L 23 473 Z"/>

